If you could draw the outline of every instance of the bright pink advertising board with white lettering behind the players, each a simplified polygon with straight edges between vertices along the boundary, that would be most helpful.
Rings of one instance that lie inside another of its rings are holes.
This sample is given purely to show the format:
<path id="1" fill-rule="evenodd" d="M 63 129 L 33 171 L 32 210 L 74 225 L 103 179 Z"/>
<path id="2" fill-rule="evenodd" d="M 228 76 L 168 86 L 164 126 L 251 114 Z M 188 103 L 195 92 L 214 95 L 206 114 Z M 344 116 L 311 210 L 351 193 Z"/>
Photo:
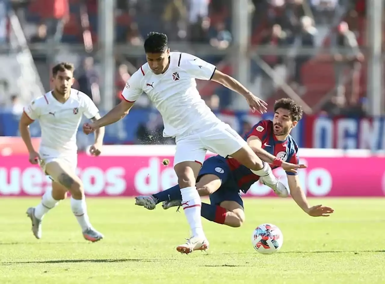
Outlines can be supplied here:
<path id="1" fill-rule="evenodd" d="M 158 152 L 162 153 L 162 152 Z M 170 159 L 164 166 L 162 160 Z M 25 155 L 0 156 L 0 196 L 40 196 L 50 180 Z M 385 158 L 301 156 L 308 168 L 299 177 L 310 197 L 382 197 Z M 282 169 L 275 174 L 286 180 Z M 78 175 L 88 196 L 136 196 L 159 192 L 177 184 L 172 155 L 91 157 L 79 155 Z M 255 183 L 246 196 L 273 197 L 271 189 Z"/>

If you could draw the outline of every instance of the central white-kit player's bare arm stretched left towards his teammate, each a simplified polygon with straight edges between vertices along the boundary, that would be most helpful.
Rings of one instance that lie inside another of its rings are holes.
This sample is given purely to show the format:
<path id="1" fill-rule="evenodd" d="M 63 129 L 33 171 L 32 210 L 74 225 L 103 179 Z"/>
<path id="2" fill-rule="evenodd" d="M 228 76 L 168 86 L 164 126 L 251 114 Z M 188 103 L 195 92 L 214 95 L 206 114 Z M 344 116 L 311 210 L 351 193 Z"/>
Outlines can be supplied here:
<path id="1" fill-rule="evenodd" d="M 95 131 L 95 129 L 115 123 L 122 118 L 124 118 L 134 105 L 134 102 L 121 101 L 120 104 L 111 109 L 105 116 L 100 119 L 95 120 L 93 123 L 85 123 L 83 125 L 83 132 L 85 134 L 90 134 Z"/>

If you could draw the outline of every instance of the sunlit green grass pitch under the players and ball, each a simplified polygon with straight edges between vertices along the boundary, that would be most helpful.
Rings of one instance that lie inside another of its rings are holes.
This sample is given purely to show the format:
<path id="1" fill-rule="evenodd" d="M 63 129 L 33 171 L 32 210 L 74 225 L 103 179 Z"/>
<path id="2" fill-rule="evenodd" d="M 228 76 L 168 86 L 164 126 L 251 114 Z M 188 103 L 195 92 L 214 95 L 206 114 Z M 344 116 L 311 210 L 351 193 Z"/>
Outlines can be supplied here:
<path id="1" fill-rule="evenodd" d="M 30 231 L 27 207 L 38 198 L 0 200 L 0 283 L 384 283 L 385 198 L 310 199 L 335 209 L 309 217 L 290 199 L 246 199 L 240 228 L 203 221 L 207 252 L 181 255 L 189 237 L 183 213 L 153 211 L 131 198 L 88 198 L 94 227 L 105 239 L 82 238 L 69 200 L 49 212 L 43 237 Z M 261 255 L 251 246 L 259 224 L 273 223 L 284 235 L 282 249 Z"/>

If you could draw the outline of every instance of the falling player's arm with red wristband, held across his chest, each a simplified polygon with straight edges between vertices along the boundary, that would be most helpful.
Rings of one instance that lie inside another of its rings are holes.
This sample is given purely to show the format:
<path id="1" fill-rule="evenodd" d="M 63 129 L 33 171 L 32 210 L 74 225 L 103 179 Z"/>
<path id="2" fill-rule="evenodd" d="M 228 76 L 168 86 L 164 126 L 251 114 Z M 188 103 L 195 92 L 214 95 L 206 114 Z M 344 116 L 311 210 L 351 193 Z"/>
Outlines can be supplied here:
<path id="1" fill-rule="evenodd" d="M 276 156 L 271 155 L 268 151 L 262 149 L 262 141 L 257 136 L 249 136 L 249 138 L 247 139 L 247 143 L 250 146 L 251 150 L 253 150 L 254 153 L 256 153 L 256 155 L 266 163 L 281 166 L 285 171 L 290 171 L 292 173 L 297 173 L 297 169 L 306 168 L 305 165 L 296 165 L 281 161 Z"/>

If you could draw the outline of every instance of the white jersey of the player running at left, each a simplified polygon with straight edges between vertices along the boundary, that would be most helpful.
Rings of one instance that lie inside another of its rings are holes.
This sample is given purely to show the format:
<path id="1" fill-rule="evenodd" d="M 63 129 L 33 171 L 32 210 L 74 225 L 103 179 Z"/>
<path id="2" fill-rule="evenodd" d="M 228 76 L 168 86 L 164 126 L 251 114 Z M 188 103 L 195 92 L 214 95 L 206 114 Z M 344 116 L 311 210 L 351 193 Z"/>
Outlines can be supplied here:
<path id="1" fill-rule="evenodd" d="M 47 92 L 25 107 L 24 112 L 30 119 L 39 120 L 42 130 L 40 150 L 76 153 L 76 133 L 82 114 L 90 119 L 99 113 L 99 109 L 86 94 L 71 89 L 65 103 L 60 103 L 52 92 Z"/>

